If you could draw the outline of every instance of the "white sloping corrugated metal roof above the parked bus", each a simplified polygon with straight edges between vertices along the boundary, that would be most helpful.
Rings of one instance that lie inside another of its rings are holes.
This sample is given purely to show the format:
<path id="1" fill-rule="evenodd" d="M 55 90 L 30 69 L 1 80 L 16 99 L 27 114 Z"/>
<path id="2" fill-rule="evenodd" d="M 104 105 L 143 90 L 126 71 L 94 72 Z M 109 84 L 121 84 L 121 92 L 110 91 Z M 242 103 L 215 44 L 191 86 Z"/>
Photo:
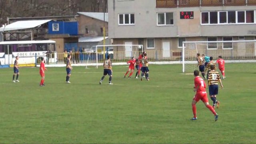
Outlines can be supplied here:
<path id="1" fill-rule="evenodd" d="M 28 28 L 35 28 L 44 24 L 46 22 L 50 22 L 51 20 L 22 20 L 18 22 L 14 22 L 12 24 L 8 24 L 5 28 L 1 27 L 0 31 L 10 31 L 10 30 L 22 30 Z"/>

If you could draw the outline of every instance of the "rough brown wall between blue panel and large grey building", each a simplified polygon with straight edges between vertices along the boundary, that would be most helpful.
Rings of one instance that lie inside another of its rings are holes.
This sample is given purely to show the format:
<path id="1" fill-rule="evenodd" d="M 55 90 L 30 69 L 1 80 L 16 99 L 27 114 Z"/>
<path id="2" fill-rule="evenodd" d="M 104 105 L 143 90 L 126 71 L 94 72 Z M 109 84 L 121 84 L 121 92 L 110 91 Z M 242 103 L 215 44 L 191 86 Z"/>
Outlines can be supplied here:
<path id="1" fill-rule="evenodd" d="M 103 28 L 104 21 L 94 19 L 88 16 L 79 15 L 78 20 L 78 30 L 79 34 L 82 36 L 103 36 L 100 28 Z M 86 34 L 86 28 L 88 29 L 88 34 Z M 108 22 L 105 22 L 106 36 L 108 36 Z"/>

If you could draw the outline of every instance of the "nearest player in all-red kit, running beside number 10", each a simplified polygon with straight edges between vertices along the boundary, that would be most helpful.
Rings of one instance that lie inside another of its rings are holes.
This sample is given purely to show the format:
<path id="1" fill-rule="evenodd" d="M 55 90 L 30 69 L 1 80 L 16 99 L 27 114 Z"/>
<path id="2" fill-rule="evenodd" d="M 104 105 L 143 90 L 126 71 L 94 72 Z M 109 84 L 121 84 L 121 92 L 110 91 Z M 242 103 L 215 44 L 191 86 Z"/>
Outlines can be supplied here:
<path id="1" fill-rule="evenodd" d="M 212 108 L 212 106 L 209 105 L 208 102 L 208 98 L 207 98 L 207 93 L 206 93 L 206 84 L 204 82 L 204 80 L 199 76 L 199 71 L 195 70 L 194 71 L 194 92 L 196 92 L 196 95 L 194 96 L 193 100 L 192 100 L 192 110 L 193 110 L 193 114 L 194 117 L 191 120 L 197 120 L 196 117 L 196 103 L 199 100 L 202 100 L 202 102 L 204 102 L 204 105 L 214 114 L 215 116 L 215 121 L 218 120 L 218 114 L 216 114 L 214 108 Z"/>

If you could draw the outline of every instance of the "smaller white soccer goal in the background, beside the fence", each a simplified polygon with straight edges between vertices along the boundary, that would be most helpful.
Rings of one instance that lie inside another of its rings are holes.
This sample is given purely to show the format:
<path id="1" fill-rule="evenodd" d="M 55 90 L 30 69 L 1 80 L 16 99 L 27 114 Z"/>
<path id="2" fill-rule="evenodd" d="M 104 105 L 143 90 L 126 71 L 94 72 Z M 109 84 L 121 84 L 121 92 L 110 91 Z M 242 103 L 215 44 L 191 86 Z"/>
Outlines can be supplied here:
<path id="1" fill-rule="evenodd" d="M 92 46 L 87 55 L 86 68 L 104 62 L 110 56 L 112 62 L 126 62 L 143 52 L 143 45 L 97 45 Z"/>

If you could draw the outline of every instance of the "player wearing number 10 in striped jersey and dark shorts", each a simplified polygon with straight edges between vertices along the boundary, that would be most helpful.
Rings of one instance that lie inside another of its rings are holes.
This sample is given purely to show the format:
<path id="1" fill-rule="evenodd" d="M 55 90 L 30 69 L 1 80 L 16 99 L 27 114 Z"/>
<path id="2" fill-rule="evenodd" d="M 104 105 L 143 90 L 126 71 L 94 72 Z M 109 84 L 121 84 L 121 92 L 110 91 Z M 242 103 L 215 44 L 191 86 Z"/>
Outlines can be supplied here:
<path id="1" fill-rule="evenodd" d="M 215 104 L 217 104 L 217 108 L 220 107 L 220 102 L 217 101 L 216 95 L 218 94 L 218 82 L 220 82 L 221 88 L 223 88 L 221 79 L 220 79 L 220 74 L 219 72 L 215 71 L 215 66 L 212 64 L 211 66 L 211 71 L 208 74 L 208 86 L 209 86 L 209 94 L 210 98 L 213 101 L 212 107 L 215 108 Z"/>

